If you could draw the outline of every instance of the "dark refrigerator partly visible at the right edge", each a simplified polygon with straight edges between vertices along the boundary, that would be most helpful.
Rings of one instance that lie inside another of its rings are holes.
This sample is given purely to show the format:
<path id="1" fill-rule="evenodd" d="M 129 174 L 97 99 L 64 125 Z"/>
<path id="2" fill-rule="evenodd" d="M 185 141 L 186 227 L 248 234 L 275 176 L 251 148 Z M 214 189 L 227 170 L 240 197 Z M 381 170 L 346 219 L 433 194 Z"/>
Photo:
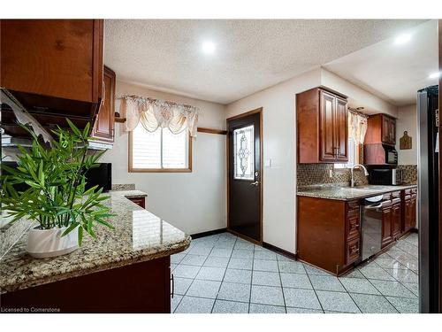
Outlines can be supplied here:
<path id="1" fill-rule="evenodd" d="M 438 85 L 417 92 L 419 306 L 438 313 Z"/>

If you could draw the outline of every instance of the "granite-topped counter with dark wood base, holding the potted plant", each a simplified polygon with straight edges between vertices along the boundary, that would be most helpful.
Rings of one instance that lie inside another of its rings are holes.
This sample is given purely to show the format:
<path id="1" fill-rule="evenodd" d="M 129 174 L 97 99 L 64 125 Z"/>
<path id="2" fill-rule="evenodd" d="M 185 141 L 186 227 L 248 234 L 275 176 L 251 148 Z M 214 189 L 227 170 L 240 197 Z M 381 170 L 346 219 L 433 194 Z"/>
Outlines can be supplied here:
<path id="1" fill-rule="evenodd" d="M 110 192 L 114 230 L 96 227 L 70 254 L 34 259 L 22 236 L 0 260 L 2 312 L 170 313 L 170 256 L 191 238 L 128 198 L 139 190 Z"/>

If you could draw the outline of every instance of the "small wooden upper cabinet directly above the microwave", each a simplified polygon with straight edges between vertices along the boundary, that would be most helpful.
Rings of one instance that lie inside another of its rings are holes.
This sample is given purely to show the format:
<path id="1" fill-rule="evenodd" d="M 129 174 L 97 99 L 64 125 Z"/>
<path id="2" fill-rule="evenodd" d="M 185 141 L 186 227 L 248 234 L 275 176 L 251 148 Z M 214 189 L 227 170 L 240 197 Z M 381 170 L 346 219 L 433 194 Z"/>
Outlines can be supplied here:
<path id="1" fill-rule="evenodd" d="M 395 145 L 396 120 L 385 114 L 375 114 L 370 116 L 364 143 L 384 143 Z"/>

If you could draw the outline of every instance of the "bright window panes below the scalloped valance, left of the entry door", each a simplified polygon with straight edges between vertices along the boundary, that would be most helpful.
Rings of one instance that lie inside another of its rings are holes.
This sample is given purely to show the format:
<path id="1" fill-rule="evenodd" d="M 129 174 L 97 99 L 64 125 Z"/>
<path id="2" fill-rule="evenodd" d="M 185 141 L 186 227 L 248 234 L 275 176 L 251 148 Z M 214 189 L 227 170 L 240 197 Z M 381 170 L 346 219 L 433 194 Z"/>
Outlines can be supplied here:
<path id="1" fill-rule="evenodd" d="M 141 123 L 129 133 L 129 172 L 191 172 L 192 139 L 187 130 L 150 133 Z"/>

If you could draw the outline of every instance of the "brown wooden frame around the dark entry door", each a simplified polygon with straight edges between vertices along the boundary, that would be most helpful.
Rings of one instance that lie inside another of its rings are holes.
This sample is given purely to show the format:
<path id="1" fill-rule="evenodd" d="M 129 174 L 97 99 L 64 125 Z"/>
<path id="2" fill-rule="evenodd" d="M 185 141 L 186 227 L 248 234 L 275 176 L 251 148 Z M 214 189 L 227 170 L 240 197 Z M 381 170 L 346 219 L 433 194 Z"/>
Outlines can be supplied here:
<path id="1" fill-rule="evenodd" d="M 261 205 L 259 206 L 259 228 L 260 228 L 260 241 L 256 241 L 247 235 L 239 234 L 235 231 L 233 231 L 230 228 L 230 206 L 229 206 L 229 199 L 230 199 L 230 177 L 229 177 L 229 171 L 230 171 L 230 135 L 228 132 L 228 124 L 231 120 L 237 120 L 240 118 L 247 117 L 248 115 L 252 115 L 255 113 L 259 113 L 259 151 L 260 151 L 260 174 L 261 174 L 261 187 L 260 187 L 260 201 Z M 263 245 L 263 185 L 264 185 L 264 176 L 263 176 L 263 107 L 256 108 L 255 110 L 241 113 L 239 115 L 232 116 L 230 118 L 227 118 L 225 120 L 225 125 L 227 127 L 227 135 L 226 135 L 226 181 L 227 181 L 227 231 L 232 233 L 233 235 L 237 235 L 241 238 L 244 238 L 245 240 L 248 240 L 252 243 Z"/>

